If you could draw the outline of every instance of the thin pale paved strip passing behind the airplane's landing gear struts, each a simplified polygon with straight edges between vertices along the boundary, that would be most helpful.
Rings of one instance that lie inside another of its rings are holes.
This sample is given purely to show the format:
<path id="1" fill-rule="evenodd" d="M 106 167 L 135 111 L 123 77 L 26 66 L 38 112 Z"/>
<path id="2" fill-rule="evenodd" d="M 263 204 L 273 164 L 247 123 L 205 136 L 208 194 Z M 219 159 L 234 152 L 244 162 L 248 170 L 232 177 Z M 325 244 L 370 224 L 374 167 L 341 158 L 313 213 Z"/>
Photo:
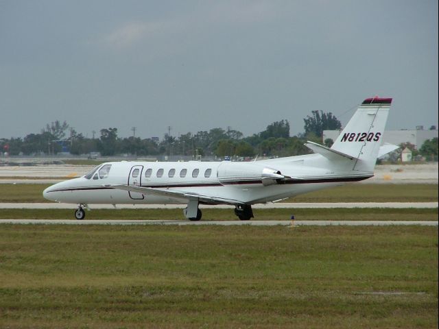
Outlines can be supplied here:
<path id="1" fill-rule="evenodd" d="M 7 204 L 0 203 L 0 209 L 75 209 L 76 204 Z M 111 204 L 92 204 L 91 209 L 114 209 Z M 117 208 L 123 209 L 154 209 L 154 208 L 186 208 L 186 204 L 118 204 Z M 207 206 L 200 205 L 200 208 L 221 208 L 231 209 L 233 206 L 217 205 Z M 254 209 L 270 208 L 438 208 L 438 202 L 337 202 L 337 203 L 283 203 L 276 204 L 255 204 Z"/>

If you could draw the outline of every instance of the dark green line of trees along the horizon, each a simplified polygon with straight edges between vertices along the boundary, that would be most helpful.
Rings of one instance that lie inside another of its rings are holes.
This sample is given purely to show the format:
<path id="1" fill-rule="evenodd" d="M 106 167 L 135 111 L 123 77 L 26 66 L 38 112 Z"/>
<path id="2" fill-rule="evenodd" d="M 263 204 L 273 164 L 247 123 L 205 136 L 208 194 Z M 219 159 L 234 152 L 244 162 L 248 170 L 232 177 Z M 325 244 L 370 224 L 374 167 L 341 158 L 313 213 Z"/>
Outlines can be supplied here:
<path id="1" fill-rule="evenodd" d="M 162 141 L 153 138 L 125 137 L 117 135 L 117 127 L 101 129 L 98 138 L 88 138 L 76 132 L 64 121 L 48 123 L 40 134 L 27 134 L 24 138 L 1 138 L 0 149 L 12 156 L 58 154 L 68 150 L 74 155 L 99 152 L 102 156 L 130 154 L 132 156 L 296 156 L 309 154 L 306 141 L 322 143 L 323 130 L 339 130 L 342 125 L 331 113 L 312 111 L 303 119 L 305 132 L 289 136 L 289 122 L 275 121 L 263 132 L 244 137 L 237 130 L 213 128 L 197 133 L 188 132 L 180 136 L 165 134 Z M 68 134 L 68 136 L 67 136 Z M 436 138 L 437 140 L 437 138 Z M 324 145 L 331 147 L 333 141 L 326 140 Z M 425 151 L 425 152 L 423 152 Z M 431 156 L 437 153 L 434 141 L 421 147 L 418 152 Z M 427 154 L 428 153 L 428 154 Z"/>

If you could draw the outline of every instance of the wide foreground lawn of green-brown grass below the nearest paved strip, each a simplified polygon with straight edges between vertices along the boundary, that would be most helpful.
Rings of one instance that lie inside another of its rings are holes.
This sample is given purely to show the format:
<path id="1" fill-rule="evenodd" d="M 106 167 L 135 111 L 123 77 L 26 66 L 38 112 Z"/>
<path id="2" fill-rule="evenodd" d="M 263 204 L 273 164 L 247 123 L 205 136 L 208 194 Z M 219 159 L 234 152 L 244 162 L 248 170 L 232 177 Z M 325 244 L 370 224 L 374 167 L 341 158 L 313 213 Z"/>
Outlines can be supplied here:
<path id="1" fill-rule="evenodd" d="M 1 328 L 438 326 L 431 227 L 2 225 L 0 265 Z"/>

